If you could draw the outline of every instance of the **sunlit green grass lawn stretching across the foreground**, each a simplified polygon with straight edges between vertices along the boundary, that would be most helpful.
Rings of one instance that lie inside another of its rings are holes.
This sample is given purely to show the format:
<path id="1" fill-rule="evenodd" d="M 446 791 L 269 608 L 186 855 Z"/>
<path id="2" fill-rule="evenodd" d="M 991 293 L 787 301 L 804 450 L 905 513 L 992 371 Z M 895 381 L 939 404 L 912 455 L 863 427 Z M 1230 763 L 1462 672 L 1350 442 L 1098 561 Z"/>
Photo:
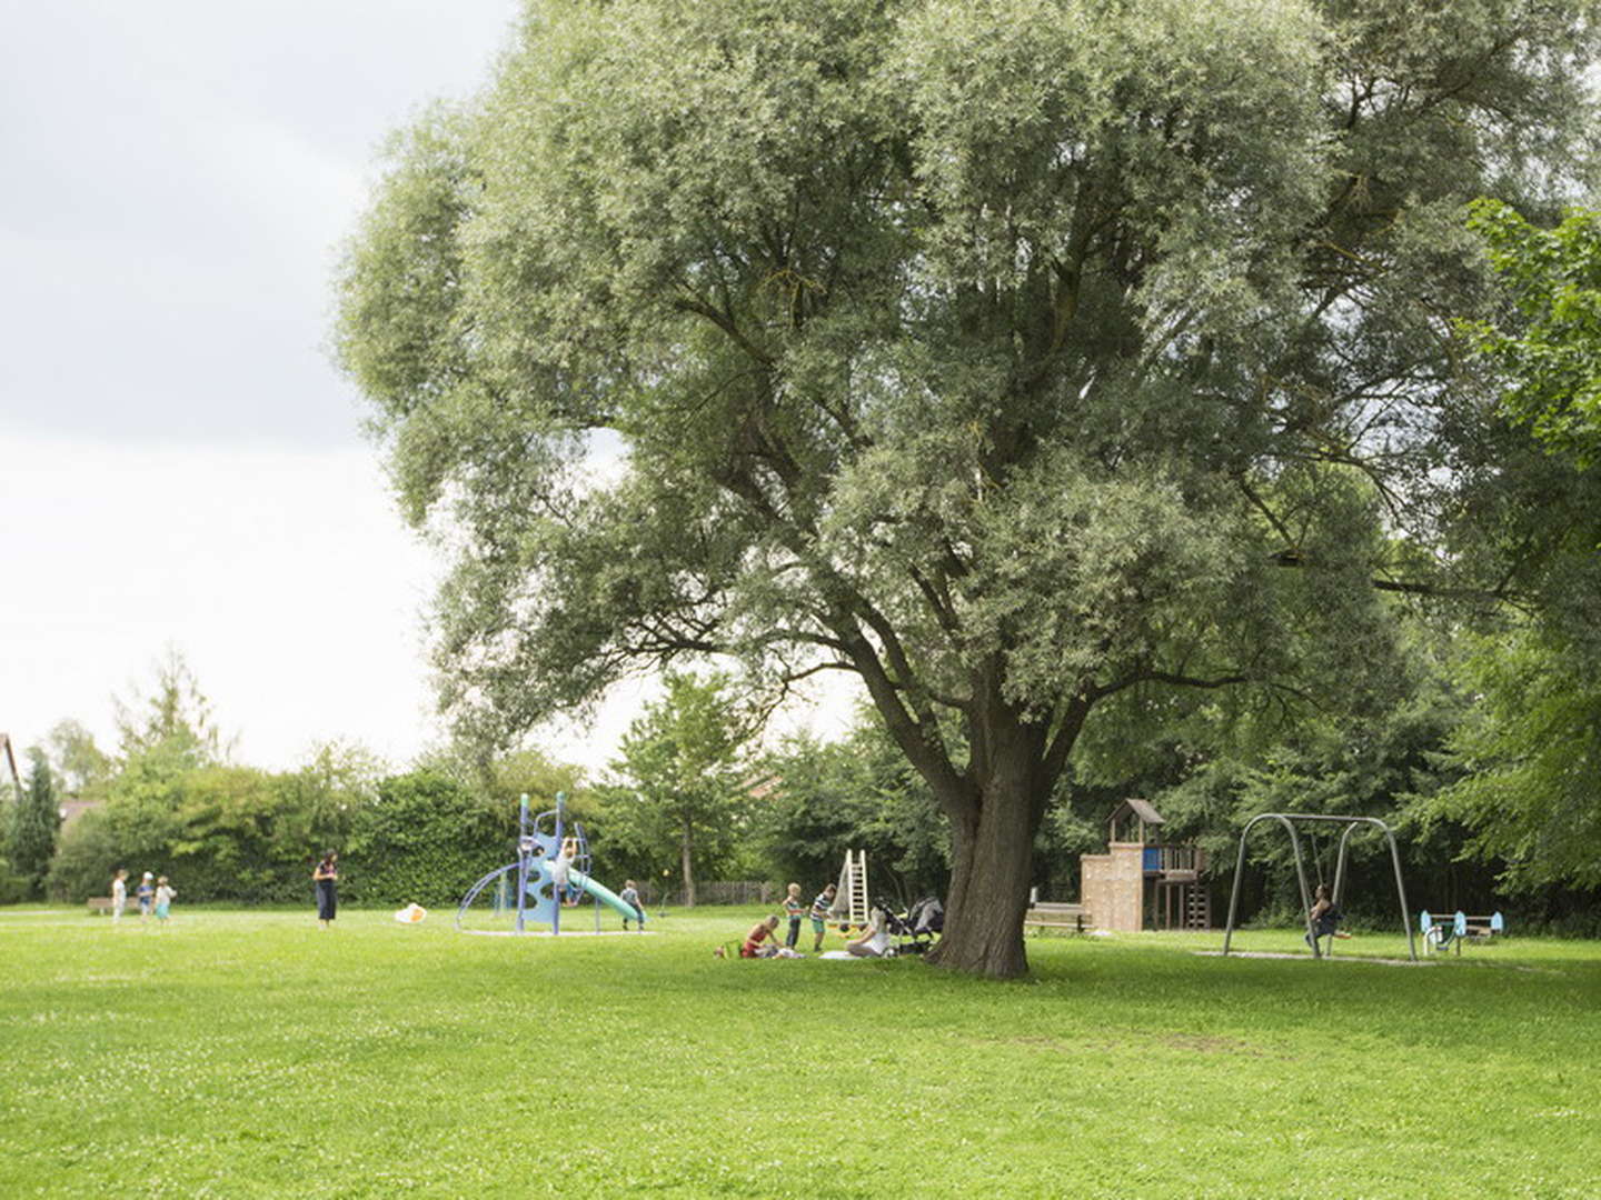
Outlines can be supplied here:
<path id="1" fill-rule="evenodd" d="M 1601 1194 L 1601 946 L 1047 934 L 1017 984 L 714 958 L 757 912 L 0 909 L 0 1195 Z"/>

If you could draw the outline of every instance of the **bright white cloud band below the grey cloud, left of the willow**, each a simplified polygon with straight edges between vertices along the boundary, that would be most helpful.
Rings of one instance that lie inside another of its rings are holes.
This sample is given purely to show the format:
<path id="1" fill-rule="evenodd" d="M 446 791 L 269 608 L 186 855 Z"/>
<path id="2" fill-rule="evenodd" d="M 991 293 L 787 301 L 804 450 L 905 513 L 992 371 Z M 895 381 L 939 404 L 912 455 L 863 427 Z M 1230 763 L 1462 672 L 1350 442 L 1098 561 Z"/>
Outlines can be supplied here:
<path id="1" fill-rule="evenodd" d="M 421 613 L 435 568 L 368 450 L 0 437 L 0 728 L 110 738 L 110 696 L 176 645 L 239 757 L 317 739 L 397 762 L 435 736 Z"/>

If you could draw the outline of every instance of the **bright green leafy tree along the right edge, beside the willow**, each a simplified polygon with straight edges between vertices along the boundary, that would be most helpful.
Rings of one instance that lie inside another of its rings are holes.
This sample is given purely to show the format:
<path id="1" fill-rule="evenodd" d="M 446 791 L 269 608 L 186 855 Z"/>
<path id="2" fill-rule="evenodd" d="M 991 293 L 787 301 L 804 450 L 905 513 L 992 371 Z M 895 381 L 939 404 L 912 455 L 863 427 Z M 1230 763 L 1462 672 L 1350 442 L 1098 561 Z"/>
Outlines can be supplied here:
<path id="1" fill-rule="evenodd" d="M 1531 891 L 1601 886 L 1601 221 L 1550 227 L 1505 203 L 1471 227 L 1505 304 L 1467 325 L 1505 422 L 1459 470 L 1465 552 L 1516 586 L 1521 611 L 1470 642 L 1476 698 L 1451 749 L 1462 778 L 1418 806 L 1473 830 L 1467 850 Z"/>

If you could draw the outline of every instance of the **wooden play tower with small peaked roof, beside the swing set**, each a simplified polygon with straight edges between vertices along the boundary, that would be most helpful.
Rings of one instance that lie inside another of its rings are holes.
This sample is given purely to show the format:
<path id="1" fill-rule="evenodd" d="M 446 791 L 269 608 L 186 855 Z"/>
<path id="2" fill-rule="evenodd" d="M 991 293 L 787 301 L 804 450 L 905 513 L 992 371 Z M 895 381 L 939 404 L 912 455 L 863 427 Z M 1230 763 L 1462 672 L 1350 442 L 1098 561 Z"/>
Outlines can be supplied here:
<path id="1" fill-rule="evenodd" d="M 1097 928 L 1212 928 L 1206 851 L 1164 843 L 1164 824 L 1145 800 L 1124 800 L 1106 821 L 1106 853 L 1079 856 L 1079 898 Z"/>

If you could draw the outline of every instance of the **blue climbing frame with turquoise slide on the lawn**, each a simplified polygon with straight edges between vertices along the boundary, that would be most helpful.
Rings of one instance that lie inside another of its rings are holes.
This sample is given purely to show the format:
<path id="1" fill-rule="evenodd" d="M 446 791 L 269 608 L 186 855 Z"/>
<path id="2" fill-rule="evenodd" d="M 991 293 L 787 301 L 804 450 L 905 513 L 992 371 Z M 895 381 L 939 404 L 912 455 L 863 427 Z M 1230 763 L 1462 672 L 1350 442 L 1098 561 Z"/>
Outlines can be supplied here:
<path id="1" fill-rule="evenodd" d="M 573 840 L 573 854 L 567 869 L 567 886 L 556 885 L 556 858 L 562 843 Z M 624 920 L 645 925 L 644 909 L 624 904 L 610 888 L 589 878 L 589 842 L 584 827 L 576 821 L 567 824 L 567 792 L 556 794 L 556 808 L 528 816 L 528 797 L 524 794 L 517 813 L 517 861 L 492 870 L 474 883 L 456 909 L 456 928 L 472 907 L 472 902 L 493 885 L 490 893 L 496 915 L 514 917 L 508 933 L 528 933 L 527 925 L 549 925 L 552 934 L 562 931 L 562 909 L 570 909 L 589 894 L 596 901 L 596 933 L 600 931 L 600 906 L 618 912 Z M 576 915 L 576 914 L 570 914 Z"/>

